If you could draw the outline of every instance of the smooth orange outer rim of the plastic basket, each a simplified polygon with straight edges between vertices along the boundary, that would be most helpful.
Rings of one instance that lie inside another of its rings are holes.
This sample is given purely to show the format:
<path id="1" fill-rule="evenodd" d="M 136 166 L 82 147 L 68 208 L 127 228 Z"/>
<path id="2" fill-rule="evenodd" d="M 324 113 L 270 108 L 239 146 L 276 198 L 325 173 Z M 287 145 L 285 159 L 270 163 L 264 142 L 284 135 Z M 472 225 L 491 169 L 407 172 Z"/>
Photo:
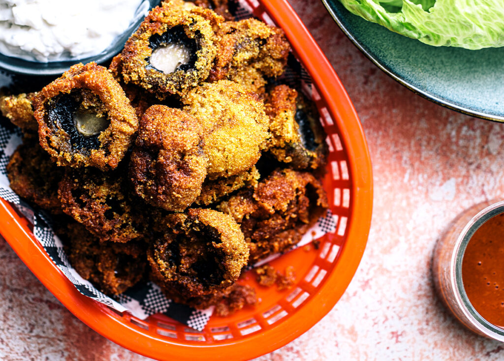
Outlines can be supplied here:
<path id="1" fill-rule="evenodd" d="M 326 100 L 351 160 L 348 167 L 353 196 L 347 225 L 347 239 L 351 240 L 351 245 L 345 242 L 339 261 L 326 278 L 326 282 L 334 287 L 322 287 L 291 317 L 244 339 L 220 341 L 217 345 L 170 342 L 150 331 L 142 332 L 133 325 L 121 323 L 119 316 L 106 306 L 81 295 L 70 280 L 61 277 L 62 273 L 34 241 L 27 220 L 7 201 L 0 199 L 0 233 L 48 290 L 89 327 L 111 341 L 148 357 L 244 359 L 271 352 L 306 332 L 331 311 L 345 292 L 364 252 L 371 223 L 372 175 L 369 151 L 357 113 L 330 62 L 287 1 L 261 0 L 261 4 L 268 15 L 281 24 L 292 48 Z M 41 269 L 44 271 L 41 272 Z M 138 342 L 140 339 L 141 342 Z"/>

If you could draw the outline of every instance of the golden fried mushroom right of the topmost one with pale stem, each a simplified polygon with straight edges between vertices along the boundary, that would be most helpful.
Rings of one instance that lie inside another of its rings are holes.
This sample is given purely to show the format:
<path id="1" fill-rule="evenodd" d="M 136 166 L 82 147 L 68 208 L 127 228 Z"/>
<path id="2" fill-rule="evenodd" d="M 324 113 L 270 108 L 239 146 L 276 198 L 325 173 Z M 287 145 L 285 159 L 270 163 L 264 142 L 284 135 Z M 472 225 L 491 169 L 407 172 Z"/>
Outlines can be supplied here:
<path id="1" fill-rule="evenodd" d="M 282 29 L 253 18 L 226 21 L 217 39 L 217 57 L 208 81 L 231 79 L 249 67 L 265 77 L 283 74 L 290 45 Z"/>

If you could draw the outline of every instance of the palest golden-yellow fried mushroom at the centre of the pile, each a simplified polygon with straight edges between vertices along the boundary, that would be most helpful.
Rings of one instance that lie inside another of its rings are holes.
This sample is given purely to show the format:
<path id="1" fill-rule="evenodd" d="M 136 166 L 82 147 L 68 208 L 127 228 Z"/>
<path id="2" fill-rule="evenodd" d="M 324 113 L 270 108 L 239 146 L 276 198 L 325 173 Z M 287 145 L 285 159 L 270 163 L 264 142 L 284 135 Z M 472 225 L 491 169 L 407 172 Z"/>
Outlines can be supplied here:
<path id="1" fill-rule="evenodd" d="M 205 83 L 183 99 L 186 112 L 200 119 L 211 179 L 250 169 L 261 156 L 268 117 L 258 95 L 228 80 Z"/>

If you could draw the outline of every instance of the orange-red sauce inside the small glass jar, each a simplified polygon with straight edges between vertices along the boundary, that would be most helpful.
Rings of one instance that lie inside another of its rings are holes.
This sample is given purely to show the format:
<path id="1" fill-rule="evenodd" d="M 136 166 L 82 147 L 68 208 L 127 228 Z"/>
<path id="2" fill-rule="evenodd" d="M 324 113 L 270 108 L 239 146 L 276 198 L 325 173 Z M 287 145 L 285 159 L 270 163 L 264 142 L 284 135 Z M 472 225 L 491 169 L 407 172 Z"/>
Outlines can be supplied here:
<path id="1" fill-rule="evenodd" d="M 462 283 L 481 317 L 504 328 L 504 213 L 486 221 L 469 240 Z"/>

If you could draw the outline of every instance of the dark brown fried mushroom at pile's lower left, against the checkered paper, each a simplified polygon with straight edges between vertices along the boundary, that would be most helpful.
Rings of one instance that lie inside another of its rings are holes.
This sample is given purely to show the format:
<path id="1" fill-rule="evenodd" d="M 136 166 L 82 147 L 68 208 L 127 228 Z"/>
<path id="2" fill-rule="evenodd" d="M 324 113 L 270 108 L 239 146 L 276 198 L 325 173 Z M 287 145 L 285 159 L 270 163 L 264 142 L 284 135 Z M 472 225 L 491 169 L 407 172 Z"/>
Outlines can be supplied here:
<path id="1" fill-rule="evenodd" d="M 102 243 L 77 222 L 58 227 L 70 263 L 82 278 L 107 295 L 118 295 L 145 275 L 146 244 L 142 241 Z"/>

